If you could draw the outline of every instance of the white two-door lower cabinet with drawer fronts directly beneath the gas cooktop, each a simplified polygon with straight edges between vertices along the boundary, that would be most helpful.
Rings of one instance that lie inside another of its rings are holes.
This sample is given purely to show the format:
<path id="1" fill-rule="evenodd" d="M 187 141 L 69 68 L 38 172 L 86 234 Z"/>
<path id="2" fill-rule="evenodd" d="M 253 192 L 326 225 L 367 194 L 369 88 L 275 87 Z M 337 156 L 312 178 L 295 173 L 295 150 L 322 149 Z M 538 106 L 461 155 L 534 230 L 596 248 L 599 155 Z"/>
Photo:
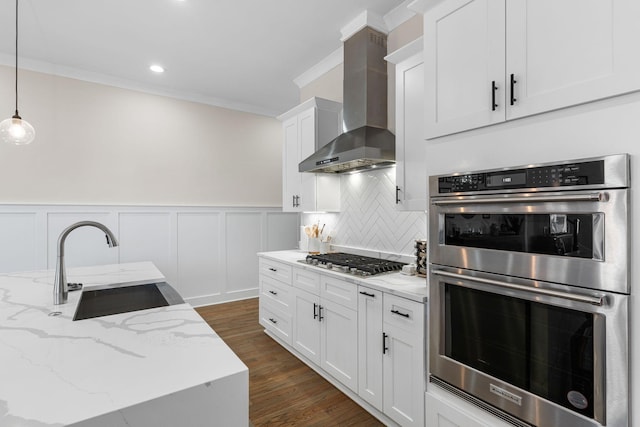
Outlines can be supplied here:
<path id="1" fill-rule="evenodd" d="M 294 272 L 293 347 L 311 362 L 353 391 L 358 389 L 358 318 L 355 296 L 348 295 L 355 286 L 308 271 Z M 315 276 L 315 279 L 314 279 Z M 319 294 L 309 292 L 317 280 Z M 355 292 L 353 292 L 355 294 Z M 333 299 L 340 299 L 342 304 Z M 353 303 L 351 303 L 353 300 Z"/>

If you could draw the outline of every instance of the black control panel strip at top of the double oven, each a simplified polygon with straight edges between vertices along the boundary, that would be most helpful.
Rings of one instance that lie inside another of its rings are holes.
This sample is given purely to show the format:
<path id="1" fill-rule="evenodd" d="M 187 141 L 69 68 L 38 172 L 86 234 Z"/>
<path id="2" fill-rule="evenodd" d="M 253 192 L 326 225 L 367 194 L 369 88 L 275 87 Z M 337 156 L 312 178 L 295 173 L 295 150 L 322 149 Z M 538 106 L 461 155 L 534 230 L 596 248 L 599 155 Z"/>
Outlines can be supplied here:
<path id="1" fill-rule="evenodd" d="M 604 160 L 438 177 L 438 193 L 604 184 Z"/>

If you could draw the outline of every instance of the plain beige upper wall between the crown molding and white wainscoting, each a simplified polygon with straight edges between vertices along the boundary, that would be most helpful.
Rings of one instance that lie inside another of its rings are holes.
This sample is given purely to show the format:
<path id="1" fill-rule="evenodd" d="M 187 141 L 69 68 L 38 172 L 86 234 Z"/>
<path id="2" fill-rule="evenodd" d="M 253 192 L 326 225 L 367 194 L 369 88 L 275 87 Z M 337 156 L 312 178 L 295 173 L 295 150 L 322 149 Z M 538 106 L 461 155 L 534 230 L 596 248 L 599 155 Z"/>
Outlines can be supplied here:
<path id="1" fill-rule="evenodd" d="M 0 66 L 0 120 L 13 79 Z M 19 101 L 36 140 L 0 145 L 0 203 L 282 204 L 275 118 L 25 70 Z"/>

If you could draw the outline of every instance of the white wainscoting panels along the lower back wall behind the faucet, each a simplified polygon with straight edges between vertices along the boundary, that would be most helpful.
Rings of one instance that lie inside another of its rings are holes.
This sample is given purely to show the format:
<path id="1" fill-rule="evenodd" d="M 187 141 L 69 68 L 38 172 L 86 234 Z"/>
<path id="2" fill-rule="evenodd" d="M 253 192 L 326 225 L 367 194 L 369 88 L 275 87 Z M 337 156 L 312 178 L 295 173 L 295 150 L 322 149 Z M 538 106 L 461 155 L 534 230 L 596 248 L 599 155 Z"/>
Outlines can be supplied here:
<path id="1" fill-rule="evenodd" d="M 0 273 L 55 269 L 57 241 L 78 221 L 92 227 L 65 242 L 68 267 L 152 261 L 184 299 L 206 305 L 258 295 L 257 252 L 295 249 L 299 216 L 275 208 L 0 205 Z"/>

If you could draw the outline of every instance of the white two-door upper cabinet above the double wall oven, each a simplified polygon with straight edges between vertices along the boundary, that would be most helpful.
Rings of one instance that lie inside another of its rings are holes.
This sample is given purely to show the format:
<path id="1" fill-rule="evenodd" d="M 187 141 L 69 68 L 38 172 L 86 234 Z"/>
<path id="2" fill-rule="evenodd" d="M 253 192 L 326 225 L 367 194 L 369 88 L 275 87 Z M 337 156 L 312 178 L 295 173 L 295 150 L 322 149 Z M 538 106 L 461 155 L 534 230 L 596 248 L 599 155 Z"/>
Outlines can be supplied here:
<path id="1" fill-rule="evenodd" d="M 636 0 L 448 0 L 424 16 L 427 138 L 640 89 Z"/>

